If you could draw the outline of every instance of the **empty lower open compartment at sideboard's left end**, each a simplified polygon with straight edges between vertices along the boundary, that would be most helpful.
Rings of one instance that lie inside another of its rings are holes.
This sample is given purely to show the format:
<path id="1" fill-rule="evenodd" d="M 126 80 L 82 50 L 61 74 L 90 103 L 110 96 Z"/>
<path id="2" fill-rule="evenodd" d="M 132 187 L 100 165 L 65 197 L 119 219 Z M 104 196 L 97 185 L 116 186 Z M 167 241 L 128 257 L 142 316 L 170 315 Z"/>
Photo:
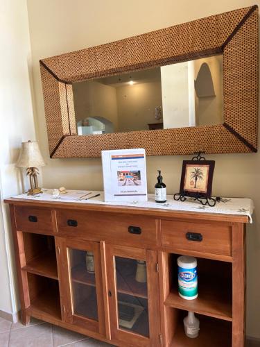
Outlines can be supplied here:
<path id="1" fill-rule="evenodd" d="M 58 280 L 28 273 L 28 289 L 31 302 L 28 310 L 61 319 Z"/>

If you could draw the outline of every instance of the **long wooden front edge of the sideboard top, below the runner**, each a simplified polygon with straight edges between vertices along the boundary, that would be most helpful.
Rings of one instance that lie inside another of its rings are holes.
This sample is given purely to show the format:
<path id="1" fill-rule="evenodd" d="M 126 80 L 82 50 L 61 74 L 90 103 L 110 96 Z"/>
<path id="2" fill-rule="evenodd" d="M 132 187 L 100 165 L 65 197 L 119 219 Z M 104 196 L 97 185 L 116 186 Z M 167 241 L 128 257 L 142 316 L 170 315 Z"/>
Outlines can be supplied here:
<path id="1" fill-rule="evenodd" d="M 67 210 L 81 210 L 81 211 L 96 211 L 96 212 L 114 212 L 121 214 L 141 214 L 150 217 L 157 217 L 163 219 L 192 219 L 192 220 L 207 220 L 207 221 L 222 221 L 229 223 L 248 223 L 249 217 L 243 214 L 222 214 L 210 212 L 187 212 L 182 210 L 165 210 L 162 208 L 143 208 L 137 206 L 121 206 L 121 205 L 98 205 L 95 203 L 71 203 L 59 201 L 36 201 L 33 199 L 24 198 L 8 198 L 4 203 L 10 205 L 20 206 L 33 206 L 37 208 L 51 208 L 51 209 L 67 209 Z"/>

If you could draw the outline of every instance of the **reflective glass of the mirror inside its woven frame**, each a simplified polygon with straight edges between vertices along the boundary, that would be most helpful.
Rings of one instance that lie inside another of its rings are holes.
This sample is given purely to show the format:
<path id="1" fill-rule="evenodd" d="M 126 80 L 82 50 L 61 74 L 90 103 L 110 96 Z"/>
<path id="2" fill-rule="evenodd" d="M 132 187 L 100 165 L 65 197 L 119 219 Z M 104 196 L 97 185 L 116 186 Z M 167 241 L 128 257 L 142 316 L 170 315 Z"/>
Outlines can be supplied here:
<path id="1" fill-rule="evenodd" d="M 73 83 L 78 135 L 223 123 L 223 56 Z"/>

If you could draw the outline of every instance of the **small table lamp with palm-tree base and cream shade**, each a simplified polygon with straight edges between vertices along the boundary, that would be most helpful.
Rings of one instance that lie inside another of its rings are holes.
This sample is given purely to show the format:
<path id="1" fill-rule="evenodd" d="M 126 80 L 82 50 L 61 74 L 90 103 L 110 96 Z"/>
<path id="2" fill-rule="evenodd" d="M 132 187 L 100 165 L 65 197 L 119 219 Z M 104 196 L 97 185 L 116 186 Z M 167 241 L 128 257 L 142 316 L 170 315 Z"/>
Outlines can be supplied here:
<path id="1" fill-rule="evenodd" d="M 45 162 L 42 158 L 37 142 L 21 142 L 21 152 L 16 167 L 26 167 L 26 175 L 30 178 L 31 189 L 28 189 L 28 195 L 42 193 L 42 189 L 38 187 L 37 167 L 44 167 Z"/>

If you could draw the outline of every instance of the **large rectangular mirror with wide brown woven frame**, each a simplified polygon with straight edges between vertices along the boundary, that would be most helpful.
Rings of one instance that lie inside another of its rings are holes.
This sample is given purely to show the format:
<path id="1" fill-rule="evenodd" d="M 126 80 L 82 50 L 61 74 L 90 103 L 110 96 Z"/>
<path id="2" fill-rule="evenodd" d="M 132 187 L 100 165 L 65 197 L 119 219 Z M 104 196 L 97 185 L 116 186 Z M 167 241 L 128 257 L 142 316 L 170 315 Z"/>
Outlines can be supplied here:
<path id="1" fill-rule="evenodd" d="M 51 158 L 257 151 L 258 8 L 40 60 Z"/>

